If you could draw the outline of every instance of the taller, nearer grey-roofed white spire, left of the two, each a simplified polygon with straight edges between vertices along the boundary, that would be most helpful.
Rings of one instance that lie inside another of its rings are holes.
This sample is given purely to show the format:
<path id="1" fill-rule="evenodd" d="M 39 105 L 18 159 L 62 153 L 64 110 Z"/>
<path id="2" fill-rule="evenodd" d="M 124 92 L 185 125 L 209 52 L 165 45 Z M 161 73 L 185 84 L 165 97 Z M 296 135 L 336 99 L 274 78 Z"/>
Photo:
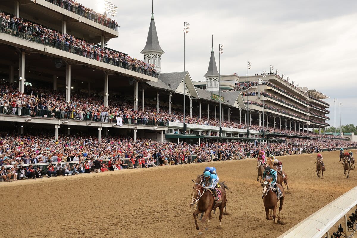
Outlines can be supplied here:
<path id="1" fill-rule="evenodd" d="M 147 34 L 146 45 L 140 52 L 144 54 L 144 61 L 154 64 L 156 72 L 161 73 L 161 55 L 165 53 L 160 47 L 159 39 L 157 38 L 155 20 L 154 20 L 154 0 L 152 0 L 151 21 L 149 33 Z"/>

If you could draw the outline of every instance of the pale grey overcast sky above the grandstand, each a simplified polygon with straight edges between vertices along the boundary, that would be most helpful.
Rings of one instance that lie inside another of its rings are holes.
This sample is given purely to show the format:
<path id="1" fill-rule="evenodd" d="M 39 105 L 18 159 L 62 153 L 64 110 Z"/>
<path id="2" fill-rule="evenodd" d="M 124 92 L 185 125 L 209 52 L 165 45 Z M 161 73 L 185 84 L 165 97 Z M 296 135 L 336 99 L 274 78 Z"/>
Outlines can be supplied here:
<path id="1" fill-rule="evenodd" d="M 104 0 L 78 0 L 104 12 Z M 119 38 L 108 47 L 144 59 L 151 18 L 151 0 L 112 0 L 118 7 L 114 19 Z M 221 74 L 245 76 L 269 71 L 273 65 L 299 86 L 316 89 L 330 98 L 334 125 L 357 125 L 357 1 L 272 0 L 272 1 L 172 1 L 154 0 L 154 17 L 161 48 L 162 72 L 183 71 L 183 21 L 190 23 L 186 34 L 186 70 L 193 81 L 205 80 L 211 52 L 211 35 L 218 67 L 218 44 L 224 45 Z M 345 115 L 345 116 L 344 116 Z M 348 116 L 347 116 L 348 115 Z"/>

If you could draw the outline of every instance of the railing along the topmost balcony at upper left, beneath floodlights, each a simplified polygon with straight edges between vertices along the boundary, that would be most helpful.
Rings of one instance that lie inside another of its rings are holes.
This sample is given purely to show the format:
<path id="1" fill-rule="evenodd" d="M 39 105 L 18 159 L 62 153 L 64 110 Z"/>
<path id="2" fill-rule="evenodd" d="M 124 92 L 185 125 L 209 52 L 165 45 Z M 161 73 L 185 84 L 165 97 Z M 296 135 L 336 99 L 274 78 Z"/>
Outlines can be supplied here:
<path id="1" fill-rule="evenodd" d="M 82 5 L 79 5 L 78 7 L 76 7 L 76 6 L 72 5 L 70 3 L 70 1 L 64 1 L 64 0 L 45 0 L 45 1 L 55 4 L 59 7 L 62 7 L 63 9 L 71 11 L 77 15 L 83 16 L 89 20 L 95 21 L 95 22 L 97 22 L 103 26 L 106 26 L 110 29 L 118 31 L 118 24 L 114 20 L 107 21 L 106 19 L 103 18 L 104 16 L 93 14 L 91 12 L 83 10 L 81 7 L 84 7 L 84 6 L 82 6 Z"/>

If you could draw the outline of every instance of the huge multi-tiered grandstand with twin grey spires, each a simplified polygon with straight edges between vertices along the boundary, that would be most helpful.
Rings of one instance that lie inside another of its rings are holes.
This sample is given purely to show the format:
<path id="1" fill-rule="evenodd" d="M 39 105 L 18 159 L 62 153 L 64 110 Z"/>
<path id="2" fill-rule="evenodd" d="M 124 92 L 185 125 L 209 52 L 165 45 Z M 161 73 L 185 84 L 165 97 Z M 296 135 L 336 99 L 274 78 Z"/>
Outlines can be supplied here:
<path id="1" fill-rule="evenodd" d="M 321 134 L 321 129 L 329 126 L 327 96 L 307 87 L 297 88 L 273 72 L 264 75 L 263 85 L 257 84 L 262 78 L 258 74 L 221 76 L 220 136 L 213 47 L 205 81 L 192 79 L 190 72 L 165 72 L 161 68 L 165 51 L 159 44 L 154 13 L 141 51 L 144 60 L 140 61 L 122 53 L 125 49 L 105 47 L 119 36 L 117 22 L 83 6 L 50 0 L 15 1 L 15 5 L 1 1 L 0 11 L 0 47 L 6 56 L 1 60 L 0 83 L 2 93 L 11 89 L 11 95 L 1 96 L 0 122 L 10 128 L 15 125 L 20 134 L 27 128 L 46 128 L 53 130 L 56 139 L 59 133 L 70 135 L 77 130 L 98 133 L 99 140 L 102 131 L 161 142 L 279 140 L 280 136 L 346 140 L 309 132 L 317 128 Z M 31 98 L 34 92 L 51 100 L 36 105 Z M 5 101 L 9 104 L 4 105 Z"/>

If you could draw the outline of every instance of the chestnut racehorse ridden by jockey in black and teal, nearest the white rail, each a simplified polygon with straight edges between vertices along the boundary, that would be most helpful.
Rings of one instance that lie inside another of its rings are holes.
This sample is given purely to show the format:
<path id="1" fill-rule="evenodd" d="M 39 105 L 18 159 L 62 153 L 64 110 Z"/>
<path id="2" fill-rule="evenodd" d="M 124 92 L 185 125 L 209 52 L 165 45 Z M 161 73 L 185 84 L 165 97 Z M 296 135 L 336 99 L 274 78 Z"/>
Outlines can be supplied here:
<path id="1" fill-rule="evenodd" d="M 275 221 L 276 218 L 276 207 L 278 204 L 278 197 L 276 195 L 275 192 L 273 192 L 272 187 L 270 186 L 270 183 L 268 181 L 265 181 L 263 183 L 263 204 L 265 207 L 265 213 L 266 213 L 266 218 L 267 220 L 273 220 L 273 222 L 276 224 L 280 221 L 280 213 L 281 213 L 281 209 L 283 207 L 283 203 L 284 203 L 284 198 L 285 198 L 285 191 L 283 186 L 281 186 L 280 184 L 276 184 L 276 186 L 280 189 L 280 191 L 282 192 L 282 196 L 280 197 L 280 206 L 279 206 L 279 214 L 278 214 L 278 220 Z M 270 210 L 270 213 L 269 213 Z M 273 212 L 273 216 L 271 215 L 271 213 Z"/>

